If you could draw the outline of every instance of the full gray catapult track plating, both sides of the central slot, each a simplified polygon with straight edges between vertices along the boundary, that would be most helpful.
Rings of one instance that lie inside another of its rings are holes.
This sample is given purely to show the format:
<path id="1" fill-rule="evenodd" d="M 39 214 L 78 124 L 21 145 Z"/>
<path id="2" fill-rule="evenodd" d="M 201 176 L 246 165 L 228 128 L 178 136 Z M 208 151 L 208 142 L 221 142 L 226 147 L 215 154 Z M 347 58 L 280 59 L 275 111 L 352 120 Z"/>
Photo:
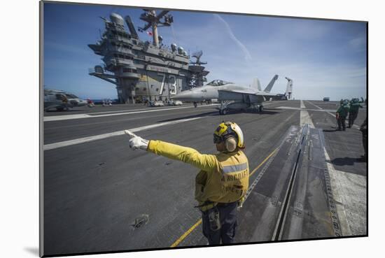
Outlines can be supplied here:
<path id="1" fill-rule="evenodd" d="M 240 212 L 237 242 L 341 236 L 325 173 L 323 132 L 288 129 Z"/>

